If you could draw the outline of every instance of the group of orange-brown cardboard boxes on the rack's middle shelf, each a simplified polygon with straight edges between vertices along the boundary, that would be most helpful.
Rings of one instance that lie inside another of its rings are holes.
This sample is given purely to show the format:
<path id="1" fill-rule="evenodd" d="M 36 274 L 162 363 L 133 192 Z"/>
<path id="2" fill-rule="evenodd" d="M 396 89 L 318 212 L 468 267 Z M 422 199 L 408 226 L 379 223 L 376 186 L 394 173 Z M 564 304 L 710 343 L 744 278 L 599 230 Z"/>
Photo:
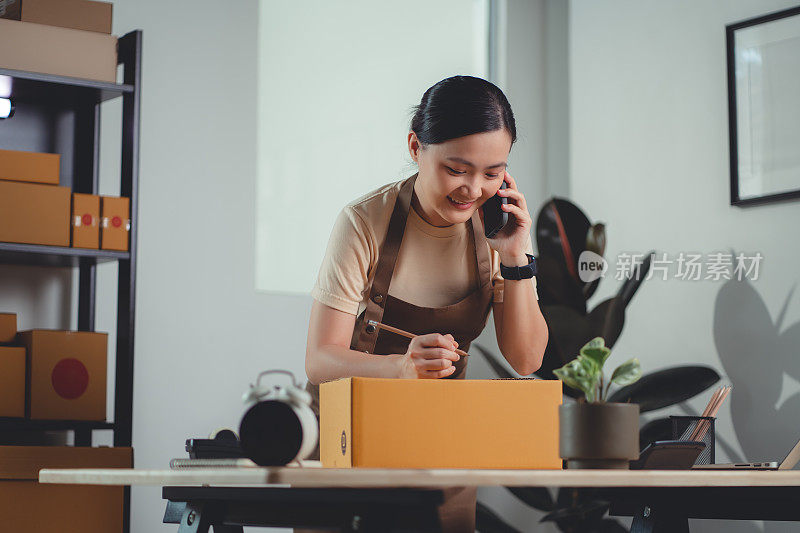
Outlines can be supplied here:
<path id="1" fill-rule="evenodd" d="M 129 199 L 71 194 L 59 165 L 58 154 L 0 149 L 0 241 L 127 251 Z"/>

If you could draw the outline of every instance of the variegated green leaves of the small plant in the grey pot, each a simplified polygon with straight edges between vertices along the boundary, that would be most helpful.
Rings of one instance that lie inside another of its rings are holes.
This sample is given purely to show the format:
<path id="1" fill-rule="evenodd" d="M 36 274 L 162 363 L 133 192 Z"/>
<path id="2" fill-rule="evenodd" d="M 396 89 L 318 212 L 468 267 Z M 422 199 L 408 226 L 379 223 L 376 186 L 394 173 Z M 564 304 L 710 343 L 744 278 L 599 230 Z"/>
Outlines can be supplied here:
<path id="1" fill-rule="evenodd" d="M 553 374 L 573 389 L 583 391 L 587 402 L 605 402 L 611 384 L 625 386 L 642 377 L 639 360 L 633 358 L 619 365 L 605 383 L 603 365 L 611 355 L 603 337 L 595 337 L 581 348 L 578 357 L 553 370 Z"/>

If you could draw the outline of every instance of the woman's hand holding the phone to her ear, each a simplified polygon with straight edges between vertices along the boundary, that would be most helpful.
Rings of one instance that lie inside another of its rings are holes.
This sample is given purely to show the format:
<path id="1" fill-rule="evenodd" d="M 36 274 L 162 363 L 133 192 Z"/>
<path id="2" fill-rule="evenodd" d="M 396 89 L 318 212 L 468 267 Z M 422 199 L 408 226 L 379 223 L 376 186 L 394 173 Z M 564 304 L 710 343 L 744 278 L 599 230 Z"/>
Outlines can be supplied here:
<path id="1" fill-rule="evenodd" d="M 508 224 L 493 239 L 489 239 L 489 246 L 497 250 L 500 262 L 504 265 L 524 266 L 528 264 L 525 252 L 530 247 L 531 214 L 525 196 L 508 171 L 503 179 L 507 188 L 498 190 L 497 194 L 508 198 L 508 203 L 502 205 L 503 211 L 509 214 Z"/>

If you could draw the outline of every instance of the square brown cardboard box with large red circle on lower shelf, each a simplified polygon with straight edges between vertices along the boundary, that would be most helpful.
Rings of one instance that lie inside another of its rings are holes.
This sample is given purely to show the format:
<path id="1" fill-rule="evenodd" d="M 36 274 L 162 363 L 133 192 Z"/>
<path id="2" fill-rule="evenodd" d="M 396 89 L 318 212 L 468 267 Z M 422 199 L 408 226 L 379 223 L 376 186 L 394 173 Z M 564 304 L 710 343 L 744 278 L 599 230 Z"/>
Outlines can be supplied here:
<path id="1" fill-rule="evenodd" d="M 27 350 L 26 416 L 106 419 L 108 334 L 35 329 L 19 339 Z"/>

